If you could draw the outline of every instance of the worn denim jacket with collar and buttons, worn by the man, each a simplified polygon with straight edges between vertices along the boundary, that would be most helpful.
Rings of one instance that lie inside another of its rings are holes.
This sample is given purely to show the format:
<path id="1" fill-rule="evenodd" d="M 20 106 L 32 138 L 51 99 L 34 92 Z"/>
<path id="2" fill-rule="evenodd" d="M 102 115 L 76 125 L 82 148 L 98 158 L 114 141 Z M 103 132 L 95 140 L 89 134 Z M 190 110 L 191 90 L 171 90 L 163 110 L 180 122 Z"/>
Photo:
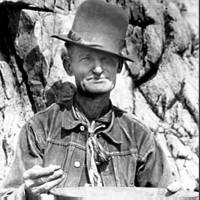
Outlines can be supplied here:
<path id="1" fill-rule="evenodd" d="M 112 106 L 110 123 L 111 128 L 96 133 L 111 155 L 100 173 L 103 186 L 166 187 L 172 182 L 165 154 L 134 115 Z M 74 118 L 71 105 L 54 103 L 37 113 L 19 134 L 14 161 L 3 182 L 4 195 L 25 199 L 23 173 L 34 165 L 60 165 L 65 178 L 58 187 L 83 186 L 86 136 L 87 127 Z"/>

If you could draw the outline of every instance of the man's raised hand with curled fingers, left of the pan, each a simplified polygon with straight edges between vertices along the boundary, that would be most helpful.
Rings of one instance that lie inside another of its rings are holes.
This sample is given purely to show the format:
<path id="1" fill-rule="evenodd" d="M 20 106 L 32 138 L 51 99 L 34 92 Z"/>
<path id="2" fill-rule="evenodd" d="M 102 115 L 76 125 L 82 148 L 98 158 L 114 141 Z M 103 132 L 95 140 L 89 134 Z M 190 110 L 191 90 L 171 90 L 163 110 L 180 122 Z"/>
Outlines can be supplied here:
<path id="1" fill-rule="evenodd" d="M 64 176 L 58 165 L 49 165 L 48 167 L 35 165 L 24 172 L 23 178 L 28 195 L 39 196 L 59 184 Z"/>

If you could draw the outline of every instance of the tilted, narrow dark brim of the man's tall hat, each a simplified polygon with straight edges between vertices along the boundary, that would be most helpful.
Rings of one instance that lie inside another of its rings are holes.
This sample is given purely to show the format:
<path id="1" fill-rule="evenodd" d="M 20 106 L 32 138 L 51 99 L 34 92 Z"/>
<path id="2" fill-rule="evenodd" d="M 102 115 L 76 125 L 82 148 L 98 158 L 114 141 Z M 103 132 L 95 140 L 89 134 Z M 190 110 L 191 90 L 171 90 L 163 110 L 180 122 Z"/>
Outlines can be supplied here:
<path id="1" fill-rule="evenodd" d="M 98 50 L 98 51 L 106 52 L 106 53 L 112 54 L 114 56 L 117 56 L 117 57 L 119 57 L 123 60 L 128 60 L 130 62 L 134 62 L 134 60 L 130 57 L 107 51 L 107 50 L 101 48 L 99 45 L 96 45 L 96 44 L 85 44 L 85 43 L 81 43 L 80 41 L 74 41 L 74 40 L 70 39 L 67 35 L 52 35 L 51 37 L 65 41 L 65 42 L 69 42 L 69 43 L 72 43 L 72 44 L 75 44 L 75 45 L 78 45 L 78 46 L 83 46 L 83 47 L 87 47 L 87 48 L 90 48 L 90 49 L 95 49 L 95 50 Z"/>

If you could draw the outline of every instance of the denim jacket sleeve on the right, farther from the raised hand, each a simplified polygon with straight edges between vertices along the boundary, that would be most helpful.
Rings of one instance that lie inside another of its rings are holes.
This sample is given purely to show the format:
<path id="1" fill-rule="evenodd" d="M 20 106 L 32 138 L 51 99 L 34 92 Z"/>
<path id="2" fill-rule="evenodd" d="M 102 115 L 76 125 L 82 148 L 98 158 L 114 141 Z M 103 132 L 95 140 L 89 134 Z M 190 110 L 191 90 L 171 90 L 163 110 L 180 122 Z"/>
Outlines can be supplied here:
<path id="1" fill-rule="evenodd" d="M 166 154 L 148 129 L 142 125 L 137 126 L 136 129 L 139 155 L 135 185 L 166 188 L 177 179 L 170 169 Z"/>

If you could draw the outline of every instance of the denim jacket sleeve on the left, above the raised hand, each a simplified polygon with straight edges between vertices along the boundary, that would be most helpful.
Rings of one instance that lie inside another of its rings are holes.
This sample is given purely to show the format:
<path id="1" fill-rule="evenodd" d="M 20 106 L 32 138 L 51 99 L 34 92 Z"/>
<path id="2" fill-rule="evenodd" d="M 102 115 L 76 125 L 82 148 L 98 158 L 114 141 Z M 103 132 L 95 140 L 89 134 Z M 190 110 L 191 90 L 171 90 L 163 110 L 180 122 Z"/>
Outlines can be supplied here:
<path id="1" fill-rule="evenodd" d="M 41 138 L 38 134 L 36 135 L 30 123 L 22 128 L 18 136 L 13 162 L 0 189 L 1 199 L 27 199 L 25 197 L 23 173 L 34 165 L 42 165 Z"/>

